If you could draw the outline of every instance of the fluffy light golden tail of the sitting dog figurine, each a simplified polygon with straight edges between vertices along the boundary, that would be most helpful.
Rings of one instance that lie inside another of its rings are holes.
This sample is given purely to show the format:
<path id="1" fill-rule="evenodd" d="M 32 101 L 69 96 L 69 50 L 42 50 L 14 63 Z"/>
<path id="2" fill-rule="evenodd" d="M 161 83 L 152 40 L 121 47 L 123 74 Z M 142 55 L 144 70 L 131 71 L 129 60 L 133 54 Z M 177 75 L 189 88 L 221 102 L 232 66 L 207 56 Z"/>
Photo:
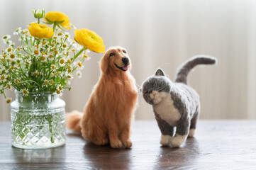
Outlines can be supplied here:
<path id="1" fill-rule="evenodd" d="M 66 116 L 67 128 L 74 132 L 81 132 L 82 115 L 83 114 L 79 111 L 72 111 L 71 113 L 68 113 Z"/>

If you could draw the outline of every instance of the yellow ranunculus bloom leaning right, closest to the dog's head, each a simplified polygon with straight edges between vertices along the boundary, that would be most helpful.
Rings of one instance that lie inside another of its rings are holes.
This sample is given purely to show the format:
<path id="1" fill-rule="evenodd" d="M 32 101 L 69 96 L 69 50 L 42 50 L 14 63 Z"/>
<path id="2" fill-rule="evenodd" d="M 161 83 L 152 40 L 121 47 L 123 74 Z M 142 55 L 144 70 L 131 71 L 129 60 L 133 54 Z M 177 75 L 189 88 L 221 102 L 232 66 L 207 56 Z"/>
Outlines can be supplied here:
<path id="1" fill-rule="evenodd" d="M 74 30 L 74 40 L 80 45 L 86 46 L 94 52 L 105 52 L 105 45 L 102 38 L 89 29 Z"/>

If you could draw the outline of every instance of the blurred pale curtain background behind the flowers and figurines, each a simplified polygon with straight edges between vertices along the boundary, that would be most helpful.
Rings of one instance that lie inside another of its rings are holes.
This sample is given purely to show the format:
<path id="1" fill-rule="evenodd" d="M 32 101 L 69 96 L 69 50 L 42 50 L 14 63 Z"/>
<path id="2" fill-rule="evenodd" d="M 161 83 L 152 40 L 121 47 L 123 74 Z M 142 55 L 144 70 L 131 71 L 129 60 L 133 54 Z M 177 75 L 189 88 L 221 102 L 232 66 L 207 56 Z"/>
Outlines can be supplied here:
<path id="1" fill-rule="evenodd" d="M 193 55 L 212 55 L 216 66 L 196 67 L 189 84 L 201 97 L 201 119 L 256 118 L 256 1 L 250 0 L 5 0 L 0 2 L 0 36 L 35 21 L 33 9 L 66 13 L 77 28 L 101 35 L 106 47 L 126 47 L 138 88 L 158 67 L 174 80 L 177 68 Z M 72 35 L 74 30 L 71 30 Z M 4 43 L 0 42 L 3 49 Z M 82 111 L 99 79 L 102 54 L 89 53 L 82 79 L 65 91 L 66 110 Z M 13 91 L 8 91 L 8 96 Z M 138 120 L 153 119 L 139 94 Z M 10 109 L 0 96 L 0 120 Z"/>

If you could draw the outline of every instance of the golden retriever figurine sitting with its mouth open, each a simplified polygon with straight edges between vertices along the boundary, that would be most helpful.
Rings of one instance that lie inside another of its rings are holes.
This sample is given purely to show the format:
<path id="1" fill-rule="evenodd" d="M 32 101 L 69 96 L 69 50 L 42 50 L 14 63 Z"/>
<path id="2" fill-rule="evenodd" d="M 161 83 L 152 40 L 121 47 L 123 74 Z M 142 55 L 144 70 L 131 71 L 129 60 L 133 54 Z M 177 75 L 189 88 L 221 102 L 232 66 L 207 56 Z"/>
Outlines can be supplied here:
<path id="1" fill-rule="evenodd" d="M 82 132 L 96 145 L 131 147 L 130 126 L 137 106 L 138 90 L 130 74 L 130 59 L 123 47 L 111 47 L 100 61 L 101 77 L 94 86 L 84 114 L 67 115 L 67 128 Z"/>

